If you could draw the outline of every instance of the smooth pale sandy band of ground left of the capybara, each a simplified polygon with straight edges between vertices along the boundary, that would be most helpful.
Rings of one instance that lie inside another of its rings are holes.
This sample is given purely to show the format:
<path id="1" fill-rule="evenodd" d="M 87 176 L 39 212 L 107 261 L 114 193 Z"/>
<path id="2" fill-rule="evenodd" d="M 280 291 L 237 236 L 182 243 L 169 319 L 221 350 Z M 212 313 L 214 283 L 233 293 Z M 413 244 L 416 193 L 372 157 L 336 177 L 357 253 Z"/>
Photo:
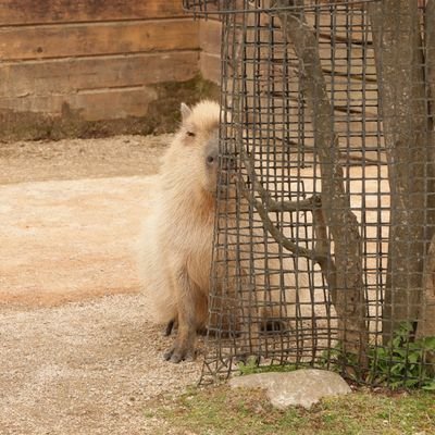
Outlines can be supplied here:
<path id="1" fill-rule="evenodd" d="M 0 186 L 0 303 L 135 293 L 134 244 L 152 176 Z"/>

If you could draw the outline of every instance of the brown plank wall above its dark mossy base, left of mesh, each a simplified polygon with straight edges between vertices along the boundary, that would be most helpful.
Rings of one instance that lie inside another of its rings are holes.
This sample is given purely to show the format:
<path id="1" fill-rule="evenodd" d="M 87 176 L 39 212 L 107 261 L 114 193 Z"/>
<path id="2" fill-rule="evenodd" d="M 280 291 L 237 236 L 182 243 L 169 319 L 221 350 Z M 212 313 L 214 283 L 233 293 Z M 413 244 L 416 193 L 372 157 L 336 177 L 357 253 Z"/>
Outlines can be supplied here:
<path id="1" fill-rule="evenodd" d="M 199 27 L 181 0 L 2 0 L 0 110 L 144 116 L 198 73 Z"/>

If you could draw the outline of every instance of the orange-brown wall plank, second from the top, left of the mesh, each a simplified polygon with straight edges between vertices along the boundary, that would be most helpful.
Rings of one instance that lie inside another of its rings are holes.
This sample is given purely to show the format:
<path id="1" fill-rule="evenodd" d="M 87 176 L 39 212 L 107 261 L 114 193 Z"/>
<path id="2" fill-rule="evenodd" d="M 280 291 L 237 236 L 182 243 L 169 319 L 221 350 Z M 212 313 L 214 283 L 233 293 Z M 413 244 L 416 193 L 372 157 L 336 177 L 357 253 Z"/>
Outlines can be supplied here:
<path id="1" fill-rule="evenodd" d="M 28 60 L 199 48 L 198 22 L 164 20 L 3 28 L 0 59 Z"/>

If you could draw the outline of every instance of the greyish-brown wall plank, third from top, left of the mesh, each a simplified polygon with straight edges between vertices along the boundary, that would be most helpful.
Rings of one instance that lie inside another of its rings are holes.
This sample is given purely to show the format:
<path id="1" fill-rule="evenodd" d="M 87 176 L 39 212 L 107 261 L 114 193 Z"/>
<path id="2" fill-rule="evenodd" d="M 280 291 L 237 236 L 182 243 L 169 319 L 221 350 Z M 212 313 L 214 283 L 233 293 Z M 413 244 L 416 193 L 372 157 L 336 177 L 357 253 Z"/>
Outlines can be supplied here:
<path id="1" fill-rule="evenodd" d="M 184 82 L 198 73 L 198 51 L 11 62 L 0 66 L 0 100 L 86 89 Z"/>

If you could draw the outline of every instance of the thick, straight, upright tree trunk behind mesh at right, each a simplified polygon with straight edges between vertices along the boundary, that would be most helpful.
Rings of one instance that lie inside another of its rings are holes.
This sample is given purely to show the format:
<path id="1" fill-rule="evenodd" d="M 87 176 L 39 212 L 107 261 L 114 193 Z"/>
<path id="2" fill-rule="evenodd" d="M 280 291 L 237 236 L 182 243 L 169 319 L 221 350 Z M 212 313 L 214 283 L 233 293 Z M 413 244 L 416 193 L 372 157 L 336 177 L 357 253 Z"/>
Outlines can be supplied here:
<path id="1" fill-rule="evenodd" d="M 419 320 L 428 240 L 431 156 L 424 61 L 417 0 L 369 5 L 390 188 L 383 334 Z"/>

